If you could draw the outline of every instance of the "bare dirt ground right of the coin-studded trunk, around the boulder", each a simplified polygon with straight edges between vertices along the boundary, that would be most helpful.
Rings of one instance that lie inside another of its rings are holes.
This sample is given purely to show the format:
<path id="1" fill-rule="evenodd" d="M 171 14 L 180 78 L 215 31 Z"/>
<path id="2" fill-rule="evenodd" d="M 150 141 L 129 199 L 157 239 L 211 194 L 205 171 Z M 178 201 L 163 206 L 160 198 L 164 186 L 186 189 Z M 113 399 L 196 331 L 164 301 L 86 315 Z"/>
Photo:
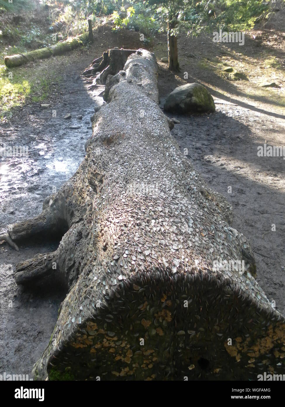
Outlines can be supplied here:
<path id="1" fill-rule="evenodd" d="M 258 47 L 253 35 L 263 39 Z M 216 113 L 168 115 L 180 121 L 172 134 L 205 181 L 233 205 L 233 227 L 241 230 L 251 243 L 257 281 L 270 301 L 274 301 L 273 305 L 276 303 L 276 309 L 284 314 L 285 160 L 257 155 L 258 147 L 265 142 L 268 146 L 285 146 L 282 38 L 284 32 L 274 27 L 247 33 L 244 48 L 238 44 L 217 46 L 207 36 L 196 39 L 181 36 L 178 42 L 181 72 L 176 76 L 164 72 L 159 85 L 161 107 L 170 91 L 187 82 L 199 82 L 212 94 Z M 164 56 L 161 47 L 158 48 L 157 55 Z M 191 54 L 186 50 L 191 50 Z M 246 72 L 249 80 L 229 81 L 221 71 L 224 65 Z M 279 88 L 261 88 L 260 83 L 273 80 Z M 272 231 L 274 225 L 276 230 Z"/>

